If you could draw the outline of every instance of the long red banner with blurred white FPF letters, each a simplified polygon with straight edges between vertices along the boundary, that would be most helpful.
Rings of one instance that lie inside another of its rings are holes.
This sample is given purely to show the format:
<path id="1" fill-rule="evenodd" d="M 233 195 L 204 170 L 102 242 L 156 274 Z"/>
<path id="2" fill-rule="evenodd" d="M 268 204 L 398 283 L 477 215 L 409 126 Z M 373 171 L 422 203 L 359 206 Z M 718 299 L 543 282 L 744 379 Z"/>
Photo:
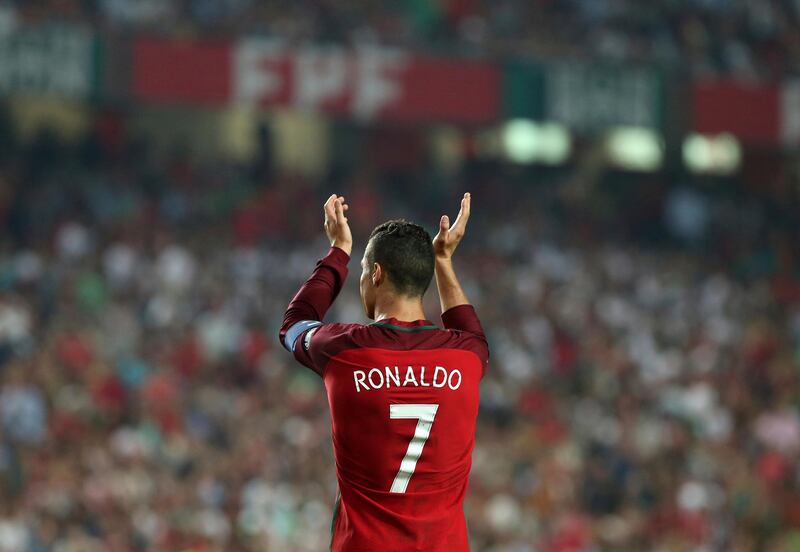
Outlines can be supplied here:
<path id="1" fill-rule="evenodd" d="M 490 122 L 499 116 L 499 69 L 386 48 L 288 49 L 262 39 L 236 44 L 139 39 L 138 99 L 294 106 L 362 119 Z"/>

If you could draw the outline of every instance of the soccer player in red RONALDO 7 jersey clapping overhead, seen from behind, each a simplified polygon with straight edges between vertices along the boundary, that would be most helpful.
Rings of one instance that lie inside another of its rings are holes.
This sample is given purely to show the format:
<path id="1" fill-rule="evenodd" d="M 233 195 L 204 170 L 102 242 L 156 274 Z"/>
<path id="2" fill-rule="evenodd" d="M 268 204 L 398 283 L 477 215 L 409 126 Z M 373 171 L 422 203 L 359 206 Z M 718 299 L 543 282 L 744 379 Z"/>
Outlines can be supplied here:
<path id="1" fill-rule="evenodd" d="M 375 320 L 369 325 L 322 322 L 347 277 L 347 209 L 343 197 L 325 202 L 331 249 L 289 303 L 280 330 L 328 395 L 339 486 L 331 549 L 467 551 L 463 502 L 489 356 L 452 263 L 470 196 L 452 227 L 441 218 L 433 240 L 403 220 L 372 231 L 359 283 Z M 434 273 L 444 329 L 422 310 Z"/>

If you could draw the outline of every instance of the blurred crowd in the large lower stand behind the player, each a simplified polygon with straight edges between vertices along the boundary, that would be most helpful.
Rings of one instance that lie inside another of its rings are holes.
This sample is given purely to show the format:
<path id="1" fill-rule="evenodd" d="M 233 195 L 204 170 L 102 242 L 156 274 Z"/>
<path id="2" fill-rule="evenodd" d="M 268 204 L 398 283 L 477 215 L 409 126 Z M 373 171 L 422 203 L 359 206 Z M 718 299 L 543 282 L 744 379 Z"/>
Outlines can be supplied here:
<path id="1" fill-rule="evenodd" d="M 457 269 L 492 351 L 473 549 L 800 549 L 796 194 L 3 144 L 0 552 L 325 549 L 325 394 L 276 338 L 327 250 L 323 198 L 348 197 L 363 247 L 466 189 Z M 330 319 L 365 321 L 352 278 Z"/>

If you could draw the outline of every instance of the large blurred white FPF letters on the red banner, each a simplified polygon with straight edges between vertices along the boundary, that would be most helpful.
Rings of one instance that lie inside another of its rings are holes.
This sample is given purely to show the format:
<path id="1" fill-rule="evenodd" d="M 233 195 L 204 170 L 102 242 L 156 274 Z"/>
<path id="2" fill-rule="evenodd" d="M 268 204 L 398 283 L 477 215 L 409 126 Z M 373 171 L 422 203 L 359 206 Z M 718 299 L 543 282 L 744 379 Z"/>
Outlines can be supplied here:
<path id="1" fill-rule="evenodd" d="M 369 119 L 402 97 L 407 63 L 402 52 L 388 48 L 290 51 L 276 41 L 245 39 L 234 54 L 233 97 L 247 104 L 286 99 L 308 109 L 336 104 Z"/>

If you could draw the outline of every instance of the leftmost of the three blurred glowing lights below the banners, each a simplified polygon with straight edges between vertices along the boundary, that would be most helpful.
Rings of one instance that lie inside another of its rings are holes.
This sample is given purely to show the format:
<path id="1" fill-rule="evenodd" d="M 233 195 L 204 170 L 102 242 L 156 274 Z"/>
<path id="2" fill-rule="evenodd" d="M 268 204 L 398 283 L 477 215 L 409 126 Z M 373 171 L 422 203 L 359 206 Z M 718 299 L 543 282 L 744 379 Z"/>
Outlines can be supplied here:
<path id="1" fill-rule="evenodd" d="M 515 119 L 502 130 L 503 150 L 514 163 L 557 165 L 567 160 L 572 147 L 569 132 L 554 123 Z"/>

